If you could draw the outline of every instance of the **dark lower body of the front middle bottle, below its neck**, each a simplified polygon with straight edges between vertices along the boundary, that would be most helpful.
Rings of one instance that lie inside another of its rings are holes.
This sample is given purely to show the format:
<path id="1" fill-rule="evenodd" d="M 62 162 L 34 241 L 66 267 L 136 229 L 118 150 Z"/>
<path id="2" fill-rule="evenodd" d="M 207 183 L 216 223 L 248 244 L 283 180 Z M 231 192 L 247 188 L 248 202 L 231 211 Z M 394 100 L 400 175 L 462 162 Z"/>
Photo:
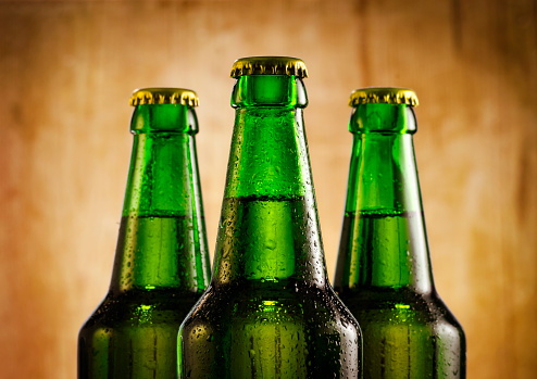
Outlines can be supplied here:
<path id="1" fill-rule="evenodd" d="M 360 329 L 332 289 L 263 287 L 210 288 L 182 329 L 180 378 L 360 377 Z"/>

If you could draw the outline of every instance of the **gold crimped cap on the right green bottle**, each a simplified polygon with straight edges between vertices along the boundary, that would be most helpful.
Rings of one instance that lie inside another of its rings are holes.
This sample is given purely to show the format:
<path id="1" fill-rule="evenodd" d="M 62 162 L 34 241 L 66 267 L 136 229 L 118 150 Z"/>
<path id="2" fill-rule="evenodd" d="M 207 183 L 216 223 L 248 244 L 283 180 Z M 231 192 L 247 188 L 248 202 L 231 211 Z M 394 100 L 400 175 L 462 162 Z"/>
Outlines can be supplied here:
<path id="1" fill-rule="evenodd" d="M 407 104 L 417 106 L 417 96 L 408 88 L 390 87 L 367 87 L 352 91 L 350 94 L 349 105 L 357 106 L 365 103 L 388 103 L 388 104 Z"/>

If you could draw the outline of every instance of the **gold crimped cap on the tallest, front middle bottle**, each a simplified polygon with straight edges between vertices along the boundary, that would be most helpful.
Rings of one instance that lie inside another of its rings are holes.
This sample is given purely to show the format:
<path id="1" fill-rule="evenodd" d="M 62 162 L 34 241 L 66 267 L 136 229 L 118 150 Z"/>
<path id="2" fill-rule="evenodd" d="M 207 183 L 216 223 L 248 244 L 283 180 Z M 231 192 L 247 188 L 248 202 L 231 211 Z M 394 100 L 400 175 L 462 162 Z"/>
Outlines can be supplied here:
<path id="1" fill-rule="evenodd" d="M 249 56 L 236 60 L 230 76 L 238 78 L 242 75 L 295 75 L 308 77 L 305 63 L 290 56 Z"/>

